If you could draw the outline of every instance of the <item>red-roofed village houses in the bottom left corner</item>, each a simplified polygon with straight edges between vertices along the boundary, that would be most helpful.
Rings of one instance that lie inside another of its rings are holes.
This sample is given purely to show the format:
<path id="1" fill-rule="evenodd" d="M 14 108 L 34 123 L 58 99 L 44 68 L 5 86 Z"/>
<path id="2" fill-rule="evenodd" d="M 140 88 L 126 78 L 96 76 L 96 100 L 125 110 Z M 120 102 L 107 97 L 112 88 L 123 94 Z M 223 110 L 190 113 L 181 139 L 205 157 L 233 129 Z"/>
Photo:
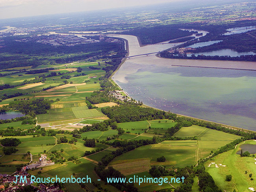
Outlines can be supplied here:
<path id="1" fill-rule="evenodd" d="M 15 183 L 16 182 L 15 176 L 19 176 L 17 179 L 17 183 Z M 21 176 L 22 178 L 26 176 L 27 182 L 20 183 L 19 179 Z M 31 181 L 30 179 L 28 179 L 29 177 L 30 177 L 30 174 L 28 174 L 23 169 L 20 171 L 16 171 L 11 175 L 0 174 L 0 191 L 1 192 L 16 192 L 17 190 L 24 191 L 25 190 L 24 188 L 26 186 L 31 185 Z M 31 185 L 33 188 L 35 188 L 36 192 L 63 192 L 63 190 L 61 190 L 59 186 L 54 186 L 54 185 L 46 186 L 43 183 L 38 183 L 38 184 L 39 184 L 38 187 Z"/>

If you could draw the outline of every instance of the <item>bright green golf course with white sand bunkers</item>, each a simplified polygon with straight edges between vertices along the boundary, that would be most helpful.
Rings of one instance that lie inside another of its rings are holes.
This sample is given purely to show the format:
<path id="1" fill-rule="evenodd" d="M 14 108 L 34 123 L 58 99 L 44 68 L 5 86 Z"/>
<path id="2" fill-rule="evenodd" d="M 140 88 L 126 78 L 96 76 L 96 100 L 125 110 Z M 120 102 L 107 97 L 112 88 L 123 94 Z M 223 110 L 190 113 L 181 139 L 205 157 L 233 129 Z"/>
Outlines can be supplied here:
<path id="1" fill-rule="evenodd" d="M 243 144 L 251 144 L 256 148 L 255 140 L 247 140 L 238 144 L 234 150 L 216 155 L 204 164 L 206 171 L 213 177 L 216 185 L 221 190 L 233 191 L 236 189 L 236 191 L 249 191 L 249 187 L 255 188 L 256 186 L 255 157 L 240 157 L 239 154 L 236 154 L 237 151 L 241 150 L 240 146 Z M 211 164 L 211 162 L 218 164 L 219 168 L 216 168 L 215 164 Z M 210 167 L 209 164 L 211 164 Z M 248 173 L 245 174 L 245 171 Z M 229 174 L 232 175 L 232 180 L 225 181 L 226 175 Z M 252 174 L 253 180 L 250 180 L 249 174 Z"/>

